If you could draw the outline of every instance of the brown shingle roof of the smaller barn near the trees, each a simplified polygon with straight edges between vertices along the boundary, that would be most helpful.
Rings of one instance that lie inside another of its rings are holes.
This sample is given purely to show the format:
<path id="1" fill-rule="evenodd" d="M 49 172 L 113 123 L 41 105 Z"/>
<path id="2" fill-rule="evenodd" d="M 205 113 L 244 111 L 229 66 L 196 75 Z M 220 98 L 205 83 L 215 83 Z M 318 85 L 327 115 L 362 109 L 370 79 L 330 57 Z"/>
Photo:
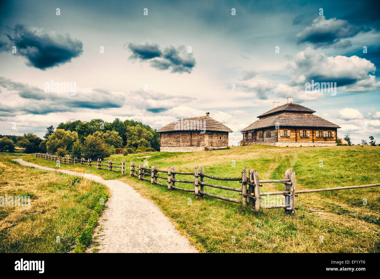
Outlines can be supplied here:
<path id="1" fill-rule="evenodd" d="M 206 131 L 232 132 L 232 130 L 228 128 L 226 125 L 220 123 L 219 121 L 216 121 L 215 119 L 212 119 L 209 116 L 179 119 L 177 121 L 169 123 L 166 126 L 163 126 L 162 128 L 158 129 L 157 132 L 161 133 L 161 132 L 172 132 L 172 131 L 180 131 L 180 130 L 186 131 L 187 130 L 186 126 L 185 128 L 179 128 L 180 121 L 182 120 L 183 121 L 189 120 L 189 123 L 192 123 L 192 125 L 195 125 L 195 123 L 198 122 L 198 120 L 201 120 L 202 122 L 201 122 L 200 130 L 205 129 Z M 184 122 L 184 125 L 186 125 L 186 122 Z M 204 125 L 204 128 L 203 128 L 203 125 Z M 190 131 L 190 129 L 188 130 Z M 191 129 L 191 130 L 195 130 L 195 129 Z"/>

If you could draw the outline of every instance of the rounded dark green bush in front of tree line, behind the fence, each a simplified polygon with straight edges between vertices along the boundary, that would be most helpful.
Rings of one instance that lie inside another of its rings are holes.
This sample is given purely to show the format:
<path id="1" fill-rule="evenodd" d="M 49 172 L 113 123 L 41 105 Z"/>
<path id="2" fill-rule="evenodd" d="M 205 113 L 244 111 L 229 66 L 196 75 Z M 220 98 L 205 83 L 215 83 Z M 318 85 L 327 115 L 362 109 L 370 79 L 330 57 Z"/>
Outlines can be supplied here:
<path id="1" fill-rule="evenodd" d="M 83 142 L 82 156 L 85 159 L 97 160 L 104 159 L 111 155 L 108 145 L 100 138 L 89 135 Z"/>

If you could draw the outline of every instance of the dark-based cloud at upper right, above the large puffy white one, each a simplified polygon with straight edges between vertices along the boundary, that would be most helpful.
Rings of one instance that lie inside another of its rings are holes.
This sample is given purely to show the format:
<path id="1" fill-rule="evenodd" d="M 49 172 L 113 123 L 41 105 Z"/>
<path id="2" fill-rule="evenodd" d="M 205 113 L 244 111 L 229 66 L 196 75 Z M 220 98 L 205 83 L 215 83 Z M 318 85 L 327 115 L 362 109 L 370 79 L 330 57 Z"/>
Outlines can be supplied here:
<path id="1" fill-rule="evenodd" d="M 355 27 L 347 20 L 318 16 L 296 35 L 296 40 L 298 44 L 309 42 L 315 47 L 328 46 L 338 43 L 342 38 L 353 37 L 361 30 L 363 28 Z"/>

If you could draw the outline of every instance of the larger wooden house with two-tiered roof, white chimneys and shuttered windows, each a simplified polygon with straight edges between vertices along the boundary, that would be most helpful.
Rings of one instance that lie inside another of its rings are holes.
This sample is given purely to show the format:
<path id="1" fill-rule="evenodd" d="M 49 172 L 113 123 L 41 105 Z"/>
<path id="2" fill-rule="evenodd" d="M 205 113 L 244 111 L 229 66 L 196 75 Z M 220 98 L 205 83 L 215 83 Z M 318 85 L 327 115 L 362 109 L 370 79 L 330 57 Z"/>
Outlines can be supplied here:
<path id="1" fill-rule="evenodd" d="M 279 106 L 258 116 L 258 120 L 241 130 L 240 145 L 264 144 L 274 146 L 328 146 L 337 144 L 338 125 L 313 113 L 315 110 L 293 103 Z"/>

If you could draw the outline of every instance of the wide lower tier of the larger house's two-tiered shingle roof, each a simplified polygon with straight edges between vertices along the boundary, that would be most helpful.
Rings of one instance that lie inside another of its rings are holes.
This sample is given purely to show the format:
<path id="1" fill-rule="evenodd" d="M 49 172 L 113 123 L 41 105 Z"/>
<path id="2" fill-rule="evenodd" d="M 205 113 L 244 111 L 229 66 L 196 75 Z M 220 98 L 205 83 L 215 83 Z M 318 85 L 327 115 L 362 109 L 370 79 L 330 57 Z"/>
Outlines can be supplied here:
<path id="1" fill-rule="evenodd" d="M 270 111 L 270 110 L 269 110 Z M 275 125 L 281 126 L 302 126 L 302 127 L 321 127 L 321 128 L 340 128 L 338 125 L 331 123 L 313 113 L 298 113 L 298 112 L 280 112 L 274 115 L 262 117 L 253 122 L 241 132 L 252 131 L 271 127 Z"/>

